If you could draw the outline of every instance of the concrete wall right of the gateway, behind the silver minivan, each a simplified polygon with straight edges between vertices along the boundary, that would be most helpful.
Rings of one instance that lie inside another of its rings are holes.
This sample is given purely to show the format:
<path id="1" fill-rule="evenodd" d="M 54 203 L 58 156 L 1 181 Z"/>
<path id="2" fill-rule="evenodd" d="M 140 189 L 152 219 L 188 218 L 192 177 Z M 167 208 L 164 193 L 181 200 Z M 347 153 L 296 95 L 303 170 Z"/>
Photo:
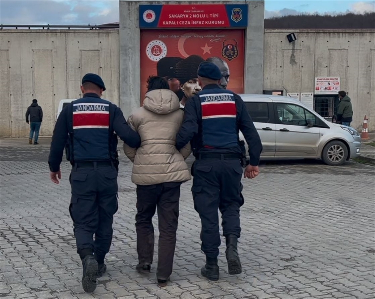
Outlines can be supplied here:
<path id="1" fill-rule="evenodd" d="M 291 32 L 297 40 L 289 43 Z M 315 77 L 329 76 L 351 97 L 351 126 L 361 129 L 367 115 L 375 131 L 375 29 L 266 30 L 263 89 L 311 92 Z"/>

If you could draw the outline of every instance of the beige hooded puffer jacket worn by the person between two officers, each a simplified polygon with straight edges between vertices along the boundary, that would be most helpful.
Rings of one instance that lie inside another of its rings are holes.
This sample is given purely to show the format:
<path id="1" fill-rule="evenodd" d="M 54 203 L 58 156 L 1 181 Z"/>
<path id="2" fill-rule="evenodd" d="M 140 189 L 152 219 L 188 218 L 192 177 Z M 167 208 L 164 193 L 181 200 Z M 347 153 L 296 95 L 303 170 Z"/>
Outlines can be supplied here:
<path id="1" fill-rule="evenodd" d="M 133 162 L 133 183 L 153 185 L 191 179 L 184 161 L 191 153 L 190 143 L 180 152 L 175 147 L 183 118 L 179 108 L 173 91 L 154 89 L 147 92 L 143 107 L 129 117 L 127 123 L 141 136 L 137 150 L 124 143 L 124 153 Z"/>

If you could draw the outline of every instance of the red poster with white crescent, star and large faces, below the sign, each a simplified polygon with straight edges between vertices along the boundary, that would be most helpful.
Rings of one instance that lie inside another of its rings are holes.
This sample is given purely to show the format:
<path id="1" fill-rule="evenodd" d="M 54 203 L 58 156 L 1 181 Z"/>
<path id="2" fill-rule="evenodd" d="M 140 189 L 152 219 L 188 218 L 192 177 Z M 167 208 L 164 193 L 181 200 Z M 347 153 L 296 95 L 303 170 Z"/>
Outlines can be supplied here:
<path id="1" fill-rule="evenodd" d="M 173 82 L 180 100 L 200 90 L 199 63 L 215 63 L 222 72 L 220 87 L 236 93 L 244 89 L 244 39 L 242 29 L 233 30 L 142 30 L 141 101 L 149 76 Z M 180 88 L 181 87 L 181 88 Z"/>

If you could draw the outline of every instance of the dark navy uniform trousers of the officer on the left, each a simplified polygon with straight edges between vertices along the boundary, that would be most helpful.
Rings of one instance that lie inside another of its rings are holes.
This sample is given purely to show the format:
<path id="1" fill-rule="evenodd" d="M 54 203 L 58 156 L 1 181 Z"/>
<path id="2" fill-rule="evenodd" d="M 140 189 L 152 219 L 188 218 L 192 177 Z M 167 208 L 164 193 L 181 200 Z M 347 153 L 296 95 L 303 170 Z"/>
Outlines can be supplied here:
<path id="1" fill-rule="evenodd" d="M 76 163 L 70 183 L 69 212 L 74 223 L 77 252 L 91 249 L 99 263 L 103 262 L 111 247 L 113 215 L 118 209 L 117 171 L 110 162 Z"/>

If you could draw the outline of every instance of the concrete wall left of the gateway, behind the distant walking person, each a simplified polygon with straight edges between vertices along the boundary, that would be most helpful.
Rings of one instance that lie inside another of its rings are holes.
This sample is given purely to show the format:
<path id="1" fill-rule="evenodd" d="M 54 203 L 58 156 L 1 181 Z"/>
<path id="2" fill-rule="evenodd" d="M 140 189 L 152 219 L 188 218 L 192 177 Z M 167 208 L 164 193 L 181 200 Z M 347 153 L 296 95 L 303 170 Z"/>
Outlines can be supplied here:
<path id="1" fill-rule="evenodd" d="M 51 136 L 59 101 L 80 98 L 87 72 L 102 76 L 103 97 L 118 104 L 117 30 L 1 30 L 0 136 L 28 136 L 33 98 L 44 114 L 40 134 Z"/>

